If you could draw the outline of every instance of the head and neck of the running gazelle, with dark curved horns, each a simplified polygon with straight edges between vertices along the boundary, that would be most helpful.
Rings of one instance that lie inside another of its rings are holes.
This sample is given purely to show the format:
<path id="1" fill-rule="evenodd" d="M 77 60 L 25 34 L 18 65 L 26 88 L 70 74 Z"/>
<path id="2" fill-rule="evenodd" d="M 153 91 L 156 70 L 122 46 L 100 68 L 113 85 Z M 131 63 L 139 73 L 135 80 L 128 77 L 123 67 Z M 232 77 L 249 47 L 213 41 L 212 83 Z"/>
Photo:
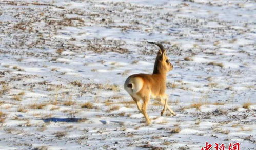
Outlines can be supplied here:
<path id="1" fill-rule="evenodd" d="M 154 63 L 154 73 L 167 73 L 173 69 L 173 65 L 169 61 L 167 57 L 166 50 L 164 49 L 163 45 L 160 43 L 155 42 L 148 42 L 150 44 L 155 44 L 159 46 L 160 50 L 157 52 L 157 56 L 155 58 Z"/>

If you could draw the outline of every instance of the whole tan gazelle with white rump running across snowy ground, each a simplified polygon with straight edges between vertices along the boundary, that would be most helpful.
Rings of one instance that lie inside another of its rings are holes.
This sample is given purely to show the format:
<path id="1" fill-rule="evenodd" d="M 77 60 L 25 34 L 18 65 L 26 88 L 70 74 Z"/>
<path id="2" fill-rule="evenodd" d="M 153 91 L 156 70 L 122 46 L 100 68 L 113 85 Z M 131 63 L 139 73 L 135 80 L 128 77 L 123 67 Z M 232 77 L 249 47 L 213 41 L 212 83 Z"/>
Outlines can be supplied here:
<path id="1" fill-rule="evenodd" d="M 145 116 L 147 124 L 151 124 L 151 121 L 147 114 L 147 107 L 150 98 L 160 101 L 164 105 L 164 109 L 161 112 L 161 116 L 168 109 L 173 116 L 175 112 L 168 106 L 168 95 L 165 94 L 166 90 L 166 75 L 173 69 L 173 65 L 170 63 L 166 50 L 163 45 L 155 42 L 148 42 L 159 46 L 160 50 L 157 53 L 154 63 L 153 74 L 133 74 L 129 76 L 124 84 L 124 89 L 130 94 L 135 101 L 137 108 Z M 140 100 L 143 104 L 141 105 Z"/>

